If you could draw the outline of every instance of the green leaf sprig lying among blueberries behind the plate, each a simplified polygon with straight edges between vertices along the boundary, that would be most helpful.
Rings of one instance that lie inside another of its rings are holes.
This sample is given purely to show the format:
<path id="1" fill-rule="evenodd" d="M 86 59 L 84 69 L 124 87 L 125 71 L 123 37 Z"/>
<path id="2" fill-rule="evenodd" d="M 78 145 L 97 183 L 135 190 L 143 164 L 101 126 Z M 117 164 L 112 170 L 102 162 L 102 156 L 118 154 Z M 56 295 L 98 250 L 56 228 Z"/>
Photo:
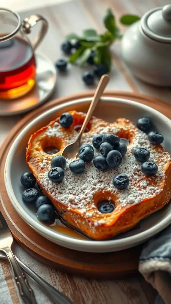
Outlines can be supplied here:
<path id="1" fill-rule="evenodd" d="M 131 25 L 138 21 L 140 17 L 134 15 L 124 15 L 120 18 L 120 23 L 123 25 Z M 66 36 L 66 40 L 79 41 L 80 47 L 73 53 L 70 58 L 70 63 L 75 63 L 82 66 L 89 58 L 92 51 L 94 51 L 93 61 L 94 64 L 104 64 L 107 71 L 111 68 L 111 53 L 109 46 L 116 40 L 122 37 L 120 29 L 117 27 L 115 17 L 111 9 L 108 9 L 103 18 L 106 31 L 104 34 L 98 34 L 95 29 L 86 29 L 83 31 L 82 36 L 71 33 Z"/>

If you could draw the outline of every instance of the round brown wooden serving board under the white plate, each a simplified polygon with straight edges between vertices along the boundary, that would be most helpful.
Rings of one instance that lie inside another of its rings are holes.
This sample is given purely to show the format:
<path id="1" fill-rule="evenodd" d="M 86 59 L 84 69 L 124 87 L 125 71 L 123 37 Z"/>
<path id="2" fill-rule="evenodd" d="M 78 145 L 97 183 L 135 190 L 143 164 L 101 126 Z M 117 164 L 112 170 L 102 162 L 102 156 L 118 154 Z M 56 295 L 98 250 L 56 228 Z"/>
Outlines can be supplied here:
<path id="1" fill-rule="evenodd" d="M 94 278 L 124 278 L 138 271 L 138 260 L 142 245 L 113 253 L 83 253 L 61 247 L 46 240 L 28 226 L 17 214 L 9 201 L 4 184 L 4 166 L 8 151 L 16 136 L 34 118 L 44 111 L 71 100 L 91 97 L 93 92 L 85 92 L 55 99 L 26 115 L 13 127 L 0 150 L 1 202 L 0 211 L 5 217 L 16 241 L 33 257 L 59 270 L 74 275 Z M 157 98 L 130 92 L 106 91 L 103 96 L 134 100 L 162 112 L 171 119 L 170 105 Z M 9 221 L 9 217 L 12 221 Z"/>

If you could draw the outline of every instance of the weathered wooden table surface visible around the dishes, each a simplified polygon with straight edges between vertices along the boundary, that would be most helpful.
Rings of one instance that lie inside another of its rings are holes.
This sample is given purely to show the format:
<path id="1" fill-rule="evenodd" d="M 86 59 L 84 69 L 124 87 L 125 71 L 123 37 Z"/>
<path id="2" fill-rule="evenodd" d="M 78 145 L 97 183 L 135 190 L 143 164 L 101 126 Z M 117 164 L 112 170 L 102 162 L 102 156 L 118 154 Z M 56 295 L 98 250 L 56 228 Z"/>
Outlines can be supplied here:
<path id="1" fill-rule="evenodd" d="M 122 14 L 132 13 L 142 16 L 149 9 L 165 4 L 168 4 L 168 0 L 72 0 L 22 12 L 20 16 L 23 19 L 36 13 L 47 18 L 49 31 L 38 51 L 54 62 L 63 56 L 59 46 L 66 34 L 81 33 L 85 28 L 95 28 L 100 33 L 104 31 L 102 18 L 107 8 L 113 9 L 118 20 Z M 123 26 L 121 28 L 123 32 L 126 29 Z M 35 31 L 30 35 L 30 39 L 34 34 Z M 107 89 L 141 92 L 171 103 L 170 89 L 152 87 L 131 75 L 120 58 L 119 41 L 113 44 L 111 50 L 113 67 Z M 81 80 L 82 71 L 76 66 L 70 66 L 67 75 L 58 75 L 56 89 L 51 99 L 88 90 L 89 88 L 85 87 Z M 0 143 L 21 117 L 0 118 Z M 76 304 L 154 304 L 155 301 L 155 291 L 141 277 L 98 281 L 74 278 L 57 271 L 52 271 L 51 276 L 56 280 L 57 288 L 65 291 Z"/>

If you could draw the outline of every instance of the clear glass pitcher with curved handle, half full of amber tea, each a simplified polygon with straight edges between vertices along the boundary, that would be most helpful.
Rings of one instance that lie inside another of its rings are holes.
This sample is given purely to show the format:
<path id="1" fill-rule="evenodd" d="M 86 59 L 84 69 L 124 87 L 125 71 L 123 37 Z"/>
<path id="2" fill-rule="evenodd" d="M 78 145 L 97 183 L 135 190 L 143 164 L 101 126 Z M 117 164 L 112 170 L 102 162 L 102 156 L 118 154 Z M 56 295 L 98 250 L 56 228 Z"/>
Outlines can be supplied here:
<path id="1" fill-rule="evenodd" d="M 39 20 L 43 21 L 41 32 L 31 45 L 26 33 Z M 46 31 L 47 21 L 39 15 L 31 15 L 21 23 L 17 13 L 0 9 L 0 98 L 16 98 L 33 88 L 34 50 Z"/>

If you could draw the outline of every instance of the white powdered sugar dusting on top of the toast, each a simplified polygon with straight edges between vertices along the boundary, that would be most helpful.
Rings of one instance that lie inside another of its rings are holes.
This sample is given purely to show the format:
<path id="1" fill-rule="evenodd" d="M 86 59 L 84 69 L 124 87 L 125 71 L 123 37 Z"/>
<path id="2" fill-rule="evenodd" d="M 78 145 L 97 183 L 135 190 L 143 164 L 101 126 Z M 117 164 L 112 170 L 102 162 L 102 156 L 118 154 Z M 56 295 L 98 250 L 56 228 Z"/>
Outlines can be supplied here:
<path id="1" fill-rule="evenodd" d="M 92 119 L 92 123 L 95 123 L 96 119 Z M 92 144 L 92 139 L 96 134 L 102 133 L 129 133 L 129 129 L 134 130 L 134 136 L 132 136 L 131 144 L 127 147 L 127 154 L 123 157 L 122 163 L 116 169 L 109 169 L 106 172 L 99 171 L 93 165 L 93 163 L 86 164 L 85 171 L 82 174 L 73 174 L 69 170 L 69 163 L 72 159 L 67 159 L 67 165 L 65 168 L 65 178 L 60 184 L 54 184 L 48 179 L 48 171 L 51 169 L 50 161 L 52 156 L 44 154 L 44 158 L 39 162 L 42 173 L 40 174 L 41 185 L 46 188 L 51 196 L 61 201 L 68 210 L 76 209 L 80 213 L 84 214 L 87 219 L 92 219 L 89 222 L 90 225 L 98 226 L 105 224 L 105 219 L 108 220 L 111 214 L 101 214 L 93 199 L 97 192 L 104 192 L 106 199 L 113 200 L 117 209 L 127 207 L 130 204 L 138 204 L 146 198 L 151 198 L 158 195 L 162 189 L 160 186 L 164 180 L 164 171 L 166 162 L 170 161 L 169 154 L 164 149 L 156 150 L 152 146 L 147 138 L 147 135 L 131 124 L 131 122 L 125 120 L 124 126 L 120 123 L 110 124 L 103 122 L 103 125 L 97 125 L 93 127 L 93 132 L 84 133 L 81 143 Z M 61 126 L 55 122 L 53 126 L 49 126 L 44 133 L 44 136 L 60 137 L 61 132 L 64 133 Z M 64 134 L 62 134 L 64 135 Z M 74 141 L 78 133 L 73 130 L 71 133 L 65 133 L 65 142 L 71 143 Z M 123 137 L 123 136 L 121 136 Z M 141 171 L 141 163 L 137 162 L 134 158 L 134 150 L 138 147 L 147 148 L 150 151 L 150 160 L 155 161 L 158 165 L 159 171 L 153 177 L 146 177 Z M 97 153 L 97 151 L 95 151 Z M 118 190 L 113 186 L 113 176 L 119 173 L 125 173 L 128 175 L 130 184 L 125 190 Z M 99 218 L 97 220 L 97 218 Z"/>

